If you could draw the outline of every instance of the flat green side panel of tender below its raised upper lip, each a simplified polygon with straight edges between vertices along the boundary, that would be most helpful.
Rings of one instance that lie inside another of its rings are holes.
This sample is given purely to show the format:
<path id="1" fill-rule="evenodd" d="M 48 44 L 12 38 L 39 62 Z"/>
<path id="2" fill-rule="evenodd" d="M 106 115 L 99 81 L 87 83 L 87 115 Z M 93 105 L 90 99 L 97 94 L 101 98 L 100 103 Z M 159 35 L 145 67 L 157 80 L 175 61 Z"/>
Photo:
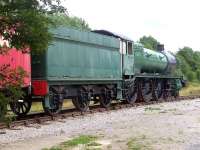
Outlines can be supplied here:
<path id="1" fill-rule="evenodd" d="M 106 47 L 56 39 L 48 50 L 48 78 L 116 79 L 120 54 Z"/>

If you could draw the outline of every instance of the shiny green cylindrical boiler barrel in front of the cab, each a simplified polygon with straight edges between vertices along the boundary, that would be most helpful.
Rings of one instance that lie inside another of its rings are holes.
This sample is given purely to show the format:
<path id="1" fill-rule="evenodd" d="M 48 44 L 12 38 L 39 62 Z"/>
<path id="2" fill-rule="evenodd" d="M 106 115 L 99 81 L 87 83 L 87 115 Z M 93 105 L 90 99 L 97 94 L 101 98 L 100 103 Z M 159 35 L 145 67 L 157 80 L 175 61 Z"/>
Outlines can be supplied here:
<path id="1" fill-rule="evenodd" d="M 136 73 L 163 73 L 168 65 L 167 57 L 140 44 L 134 45 Z"/>

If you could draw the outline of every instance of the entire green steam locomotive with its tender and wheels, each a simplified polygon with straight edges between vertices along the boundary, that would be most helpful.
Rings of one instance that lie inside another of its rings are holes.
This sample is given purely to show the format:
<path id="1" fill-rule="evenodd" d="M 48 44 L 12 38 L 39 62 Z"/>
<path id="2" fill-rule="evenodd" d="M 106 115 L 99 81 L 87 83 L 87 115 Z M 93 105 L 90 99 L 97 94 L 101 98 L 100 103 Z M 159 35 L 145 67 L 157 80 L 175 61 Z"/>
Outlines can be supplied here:
<path id="1" fill-rule="evenodd" d="M 64 99 L 86 111 L 90 101 L 109 107 L 112 100 L 130 104 L 178 96 L 181 77 L 174 76 L 176 58 L 159 47 L 145 49 L 131 39 L 105 30 L 57 28 L 48 50 L 31 56 L 31 102 L 40 100 L 46 113 L 58 113 Z"/>

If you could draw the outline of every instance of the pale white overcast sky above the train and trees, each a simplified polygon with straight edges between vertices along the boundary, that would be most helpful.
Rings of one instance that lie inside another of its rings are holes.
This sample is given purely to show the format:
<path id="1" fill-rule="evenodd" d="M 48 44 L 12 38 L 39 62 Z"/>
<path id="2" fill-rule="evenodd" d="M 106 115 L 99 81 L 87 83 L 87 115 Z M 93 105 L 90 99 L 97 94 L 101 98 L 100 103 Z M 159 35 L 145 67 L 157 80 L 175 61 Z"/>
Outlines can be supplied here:
<path id="1" fill-rule="evenodd" d="M 134 41 L 152 35 L 170 51 L 200 50 L 199 0 L 64 0 L 70 15 L 92 29 L 124 34 Z"/>

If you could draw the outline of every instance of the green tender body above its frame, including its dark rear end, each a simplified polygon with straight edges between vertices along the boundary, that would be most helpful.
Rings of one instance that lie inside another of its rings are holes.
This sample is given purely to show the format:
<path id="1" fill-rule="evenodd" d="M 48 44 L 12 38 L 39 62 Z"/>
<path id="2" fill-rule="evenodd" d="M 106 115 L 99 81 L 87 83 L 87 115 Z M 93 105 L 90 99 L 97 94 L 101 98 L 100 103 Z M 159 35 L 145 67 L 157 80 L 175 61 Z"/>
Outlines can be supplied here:
<path id="1" fill-rule="evenodd" d="M 49 81 L 119 81 L 122 78 L 116 38 L 70 28 L 52 30 L 53 43 L 32 57 L 33 78 Z"/>

